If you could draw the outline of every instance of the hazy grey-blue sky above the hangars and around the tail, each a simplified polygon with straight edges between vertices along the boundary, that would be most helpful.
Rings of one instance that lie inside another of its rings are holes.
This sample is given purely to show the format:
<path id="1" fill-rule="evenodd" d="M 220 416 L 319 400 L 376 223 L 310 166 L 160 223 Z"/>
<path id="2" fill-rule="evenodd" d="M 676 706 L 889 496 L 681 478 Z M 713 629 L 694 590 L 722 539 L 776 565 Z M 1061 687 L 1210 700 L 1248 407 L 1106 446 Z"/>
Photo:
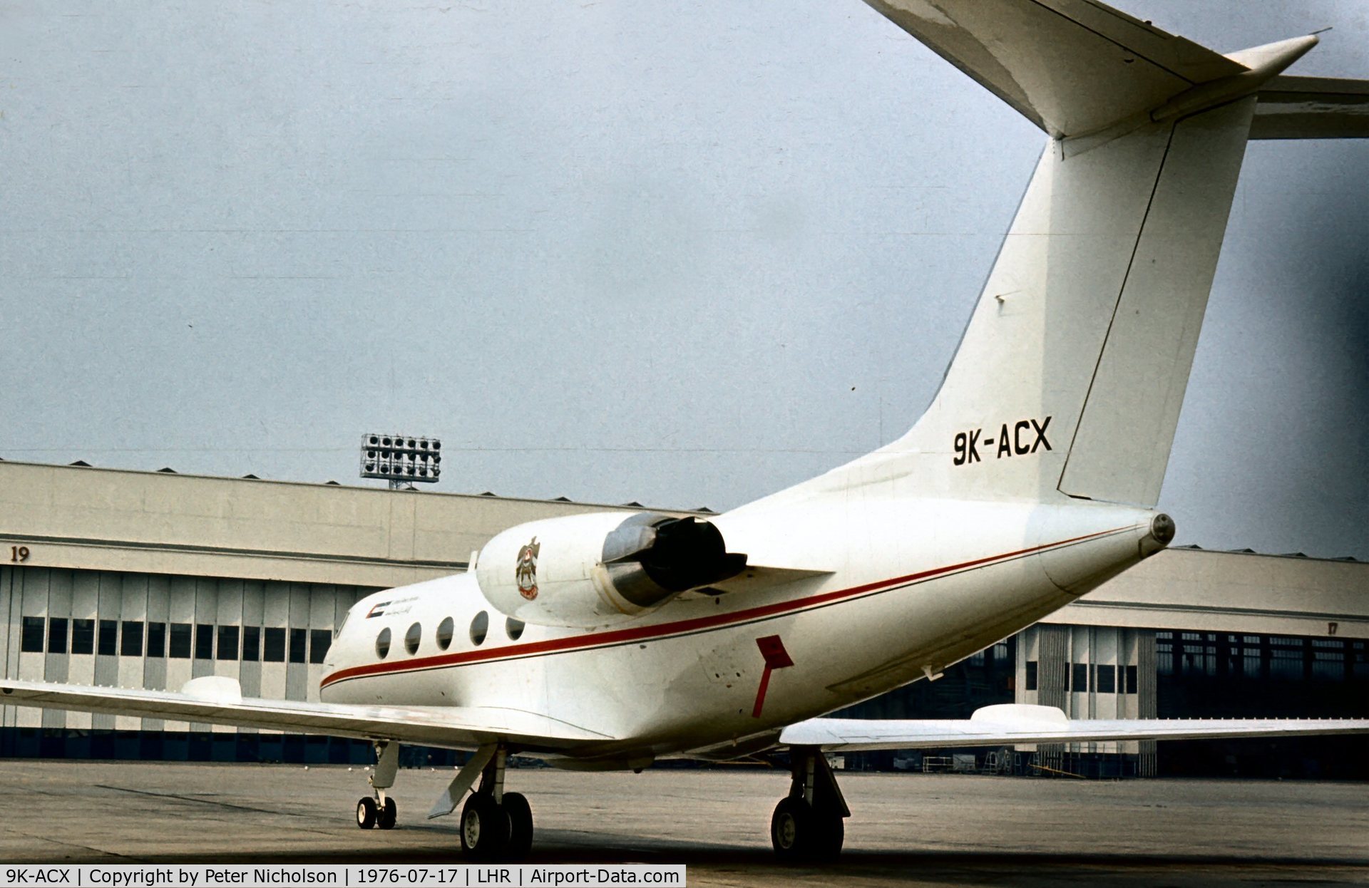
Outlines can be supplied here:
<path id="1" fill-rule="evenodd" d="M 1358 1 L 1124 8 L 1369 77 Z M 857 0 L 7 3 L 0 457 L 724 509 L 925 406 L 1043 135 Z M 1253 142 L 1161 506 L 1369 557 L 1369 141 Z"/>

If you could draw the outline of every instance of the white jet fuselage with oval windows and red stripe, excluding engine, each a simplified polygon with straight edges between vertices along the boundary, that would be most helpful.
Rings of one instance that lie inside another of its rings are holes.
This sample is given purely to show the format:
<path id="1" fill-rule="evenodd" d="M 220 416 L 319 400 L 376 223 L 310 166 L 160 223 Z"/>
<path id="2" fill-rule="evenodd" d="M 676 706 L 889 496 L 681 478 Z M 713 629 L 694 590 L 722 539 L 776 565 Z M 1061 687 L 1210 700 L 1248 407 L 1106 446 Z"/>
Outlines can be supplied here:
<path id="1" fill-rule="evenodd" d="M 787 724 L 935 676 L 1161 547 L 1150 536 L 1154 512 L 1124 506 L 916 501 L 858 517 L 809 512 L 804 525 L 826 528 L 828 540 L 810 557 L 827 558 L 830 575 L 689 592 L 601 629 L 517 632 L 474 572 L 376 592 L 334 642 L 322 698 L 508 707 L 616 737 L 565 753 L 582 766 L 743 754 L 771 746 Z M 716 523 L 728 532 L 728 516 Z M 446 618 L 453 631 L 442 650 Z"/>

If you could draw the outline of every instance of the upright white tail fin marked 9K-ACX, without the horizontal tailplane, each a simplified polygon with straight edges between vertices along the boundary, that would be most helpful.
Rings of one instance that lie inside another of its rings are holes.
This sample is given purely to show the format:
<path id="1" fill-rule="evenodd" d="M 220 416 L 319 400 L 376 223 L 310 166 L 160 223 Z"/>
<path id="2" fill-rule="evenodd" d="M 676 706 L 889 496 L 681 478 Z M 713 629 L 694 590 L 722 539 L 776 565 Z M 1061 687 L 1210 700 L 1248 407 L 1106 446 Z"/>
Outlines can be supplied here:
<path id="1" fill-rule="evenodd" d="M 872 454 L 883 471 L 956 498 L 1154 505 L 1254 105 L 1050 142 L 941 391 Z"/>

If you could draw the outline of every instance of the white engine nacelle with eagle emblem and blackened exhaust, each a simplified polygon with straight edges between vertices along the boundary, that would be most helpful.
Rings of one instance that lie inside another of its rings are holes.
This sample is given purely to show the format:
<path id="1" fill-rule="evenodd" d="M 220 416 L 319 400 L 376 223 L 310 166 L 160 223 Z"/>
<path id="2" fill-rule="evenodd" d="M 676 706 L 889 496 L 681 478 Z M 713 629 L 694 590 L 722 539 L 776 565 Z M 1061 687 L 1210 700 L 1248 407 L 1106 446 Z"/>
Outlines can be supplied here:
<path id="1" fill-rule="evenodd" d="M 683 591 L 735 576 L 716 527 L 653 512 L 597 512 L 512 527 L 485 545 L 475 568 L 500 613 L 537 625 L 626 623 Z"/>

